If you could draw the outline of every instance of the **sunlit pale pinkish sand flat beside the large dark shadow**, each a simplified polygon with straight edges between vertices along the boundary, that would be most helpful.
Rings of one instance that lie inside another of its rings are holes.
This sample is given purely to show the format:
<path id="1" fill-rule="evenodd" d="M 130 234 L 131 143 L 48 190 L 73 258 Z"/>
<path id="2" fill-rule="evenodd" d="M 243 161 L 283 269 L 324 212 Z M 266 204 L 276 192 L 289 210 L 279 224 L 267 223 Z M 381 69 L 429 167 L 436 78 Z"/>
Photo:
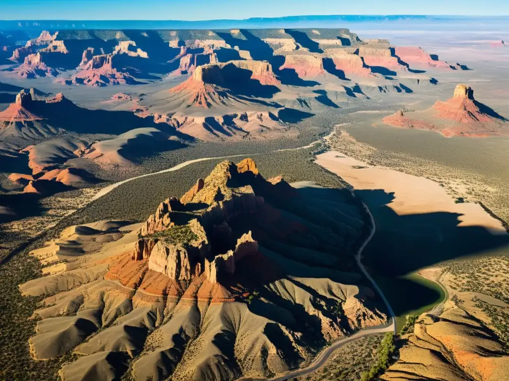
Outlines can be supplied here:
<path id="1" fill-rule="evenodd" d="M 459 226 L 482 226 L 493 233 L 506 234 L 500 221 L 486 213 L 480 205 L 455 204 L 446 190 L 432 180 L 389 168 L 372 167 L 337 151 L 317 155 L 316 163 L 341 176 L 355 189 L 383 189 L 386 193 L 393 193 L 394 199 L 388 207 L 398 215 L 458 213 L 461 214 Z"/>

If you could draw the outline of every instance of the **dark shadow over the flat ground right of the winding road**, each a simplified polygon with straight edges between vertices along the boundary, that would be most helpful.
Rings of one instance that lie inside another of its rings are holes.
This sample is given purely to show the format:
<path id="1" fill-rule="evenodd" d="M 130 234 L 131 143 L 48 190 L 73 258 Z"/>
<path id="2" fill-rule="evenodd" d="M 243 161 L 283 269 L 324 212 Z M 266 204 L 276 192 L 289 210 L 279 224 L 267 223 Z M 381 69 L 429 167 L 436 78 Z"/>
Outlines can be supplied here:
<path id="1" fill-rule="evenodd" d="M 437 291 L 409 279 L 409 274 L 443 261 L 483 255 L 509 245 L 509 235 L 493 235 L 480 226 L 459 226 L 461 214 L 398 215 L 388 206 L 394 199 L 392 193 L 383 189 L 354 193 L 370 208 L 377 229 L 363 252 L 363 263 L 392 294 L 387 297 L 397 315 L 440 297 Z"/>

